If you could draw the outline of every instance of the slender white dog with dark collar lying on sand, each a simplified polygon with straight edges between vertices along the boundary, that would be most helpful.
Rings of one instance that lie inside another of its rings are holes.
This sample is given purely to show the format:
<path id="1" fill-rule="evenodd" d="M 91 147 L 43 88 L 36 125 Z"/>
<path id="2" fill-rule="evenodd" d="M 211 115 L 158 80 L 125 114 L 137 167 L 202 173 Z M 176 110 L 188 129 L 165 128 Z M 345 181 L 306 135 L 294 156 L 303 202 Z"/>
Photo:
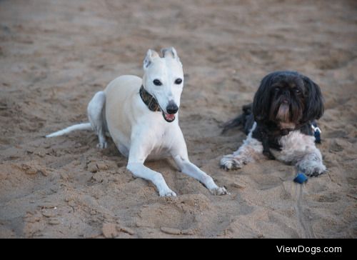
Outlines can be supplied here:
<path id="1" fill-rule="evenodd" d="M 180 171 L 201 181 L 212 194 L 227 194 L 188 159 L 177 114 L 183 89 L 182 64 L 173 47 L 161 51 L 162 58 L 156 51 L 147 52 L 143 79 L 119 76 L 94 95 L 87 109 L 90 123 L 69 126 L 46 137 L 94 129 L 99 148 L 106 148 L 105 134 L 109 131 L 121 154 L 129 157 L 127 169 L 134 176 L 152 181 L 160 196 L 176 194 L 159 172 L 144 166 L 147 158 L 172 156 Z"/>

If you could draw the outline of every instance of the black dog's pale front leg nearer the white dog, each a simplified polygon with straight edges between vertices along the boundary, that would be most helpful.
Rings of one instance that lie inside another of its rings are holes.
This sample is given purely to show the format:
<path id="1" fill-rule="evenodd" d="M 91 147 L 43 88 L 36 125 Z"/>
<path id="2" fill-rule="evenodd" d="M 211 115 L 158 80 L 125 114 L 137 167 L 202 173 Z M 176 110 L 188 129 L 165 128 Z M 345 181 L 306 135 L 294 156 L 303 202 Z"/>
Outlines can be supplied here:
<path id="1" fill-rule="evenodd" d="M 223 169 L 226 169 L 226 171 L 230 169 L 239 169 L 243 164 L 261 158 L 263 145 L 261 144 L 261 141 L 258 141 L 251 136 L 254 129 L 256 129 L 256 123 L 253 124 L 248 137 L 243 141 L 241 147 L 239 147 L 233 154 L 227 154 L 222 157 L 221 167 Z"/>

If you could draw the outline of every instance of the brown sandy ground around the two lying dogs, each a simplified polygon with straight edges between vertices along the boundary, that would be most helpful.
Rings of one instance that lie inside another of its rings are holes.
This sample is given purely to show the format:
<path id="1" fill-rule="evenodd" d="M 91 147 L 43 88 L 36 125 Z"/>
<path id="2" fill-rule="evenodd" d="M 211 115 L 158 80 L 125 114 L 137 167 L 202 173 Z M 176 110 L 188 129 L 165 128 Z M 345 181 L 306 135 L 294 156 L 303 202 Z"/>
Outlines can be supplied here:
<path id="1" fill-rule="evenodd" d="M 0 237 L 357 237 L 357 4 L 353 1 L 0 1 Z M 142 75 L 147 49 L 175 46 L 186 86 L 180 125 L 191 161 L 226 186 L 212 196 L 160 171 L 176 198 L 134 179 L 112 141 L 79 131 L 91 97 L 121 74 Z M 328 174 L 293 183 L 294 166 L 219 169 L 244 136 L 222 122 L 270 71 L 316 81 L 326 99 Z"/>

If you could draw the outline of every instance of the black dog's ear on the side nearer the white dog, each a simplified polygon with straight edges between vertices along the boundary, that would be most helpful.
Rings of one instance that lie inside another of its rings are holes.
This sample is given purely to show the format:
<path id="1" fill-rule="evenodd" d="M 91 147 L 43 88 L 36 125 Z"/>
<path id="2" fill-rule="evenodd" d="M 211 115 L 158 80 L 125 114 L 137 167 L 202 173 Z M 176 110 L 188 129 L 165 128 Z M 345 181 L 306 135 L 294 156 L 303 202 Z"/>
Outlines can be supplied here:
<path id="1" fill-rule="evenodd" d="M 256 121 L 264 121 L 268 117 L 273 76 L 275 76 L 273 73 L 266 75 L 254 95 L 252 111 Z"/>

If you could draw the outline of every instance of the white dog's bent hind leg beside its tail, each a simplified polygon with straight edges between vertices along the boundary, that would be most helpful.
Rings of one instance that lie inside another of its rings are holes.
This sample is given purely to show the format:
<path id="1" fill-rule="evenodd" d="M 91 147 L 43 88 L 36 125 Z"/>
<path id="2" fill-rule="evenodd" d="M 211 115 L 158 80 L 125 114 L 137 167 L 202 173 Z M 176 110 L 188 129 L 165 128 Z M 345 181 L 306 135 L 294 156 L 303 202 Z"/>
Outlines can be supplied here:
<path id="1" fill-rule="evenodd" d="M 105 118 L 104 118 L 104 106 L 106 104 L 106 95 L 104 91 L 97 92 L 93 99 L 88 104 L 87 113 L 89 122 L 91 126 L 96 131 L 99 139 L 99 144 L 97 147 L 104 149 L 107 146 L 106 143 L 106 129 L 105 129 Z"/>

